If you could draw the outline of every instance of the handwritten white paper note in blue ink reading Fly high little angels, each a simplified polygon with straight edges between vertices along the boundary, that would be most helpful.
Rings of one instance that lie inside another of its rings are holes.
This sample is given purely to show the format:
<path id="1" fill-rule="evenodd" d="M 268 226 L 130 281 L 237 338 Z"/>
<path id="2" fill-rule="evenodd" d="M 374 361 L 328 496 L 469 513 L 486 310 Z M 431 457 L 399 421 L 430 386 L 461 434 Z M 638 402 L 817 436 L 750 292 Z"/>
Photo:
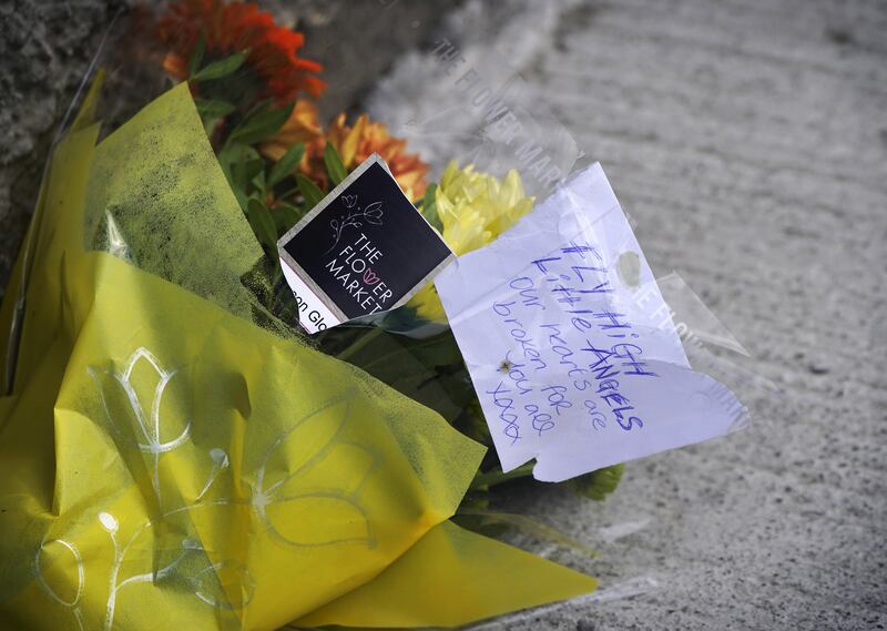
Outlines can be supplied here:
<path id="1" fill-rule="evenodd" d="M 507 471 L 560 481 L 747 420 L 690 367 L 600 164 L 435 285 Z"/>

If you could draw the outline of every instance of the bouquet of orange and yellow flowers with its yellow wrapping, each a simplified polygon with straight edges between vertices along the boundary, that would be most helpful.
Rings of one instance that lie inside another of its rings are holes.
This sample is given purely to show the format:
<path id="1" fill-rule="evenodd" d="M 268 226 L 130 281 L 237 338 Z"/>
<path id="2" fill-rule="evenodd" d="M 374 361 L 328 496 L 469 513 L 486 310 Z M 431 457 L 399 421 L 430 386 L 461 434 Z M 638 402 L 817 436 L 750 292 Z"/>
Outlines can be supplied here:
<path id="1" fill-rule="evenodd" d="M 308 336 L 278 257 L 374 154 L 456 255 L 534 207 L 520 174 L 451 161 L 432 182 L 384 123 L 325 124 L 335 78 L 253 3 L 136 17 L 160 54 L 131 63 L 172 86 L 106 133 L 91 77 L 0 312 L 3 617 L 442 627 L 593 590 L 488 537 L 532 525 L 490 510 L 532 465 L 503 471 L 488 449 L 435 286 Z M 621 472 L 567 484 L 602 500 Z"/>

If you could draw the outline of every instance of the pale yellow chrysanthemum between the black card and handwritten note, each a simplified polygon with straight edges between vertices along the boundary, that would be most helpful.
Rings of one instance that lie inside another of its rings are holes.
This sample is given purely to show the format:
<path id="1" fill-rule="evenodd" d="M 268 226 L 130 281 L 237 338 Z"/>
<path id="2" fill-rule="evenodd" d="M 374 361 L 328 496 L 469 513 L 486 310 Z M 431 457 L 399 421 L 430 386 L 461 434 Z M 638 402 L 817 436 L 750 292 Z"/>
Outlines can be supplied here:
<path id="1" fill-rule="evenodd" d="M 443 241 L 461 256 L 483 247 L 510 228 L 533 207 L 517 171 L 503 180 L 475 171 L 473 164 L 459 169 L 447 165 L 435 191 L 435 206 L 443 224 Z M 447 316 L 434 284 L 429 283 L 409 302 L 419 317 L 443 323 Z"/>

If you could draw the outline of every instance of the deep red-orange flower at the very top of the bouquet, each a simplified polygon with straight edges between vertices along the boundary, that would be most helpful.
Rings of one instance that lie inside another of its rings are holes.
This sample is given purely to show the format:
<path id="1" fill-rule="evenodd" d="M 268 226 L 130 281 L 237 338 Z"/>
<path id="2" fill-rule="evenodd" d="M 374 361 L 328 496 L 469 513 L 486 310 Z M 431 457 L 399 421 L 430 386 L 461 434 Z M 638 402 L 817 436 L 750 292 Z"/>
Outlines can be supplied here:
<path id="1" fill-rule="evenodd" d="M 187 60 L 201 34 L 208 55 L 248 49 L 247 63 L 278 103 L 293 101 L 299 92 L 319 96 L 326 86 L 313 75 L 320 72 L 320 64 L 297 54 L 305 43 L 302 33 L 278 27 L 271 13 L 253 2 L 180 0 L 171 4 L 160 20 L 160 38 L 171 48 L 163 62 L 170 74 L 186 79 Z"/>

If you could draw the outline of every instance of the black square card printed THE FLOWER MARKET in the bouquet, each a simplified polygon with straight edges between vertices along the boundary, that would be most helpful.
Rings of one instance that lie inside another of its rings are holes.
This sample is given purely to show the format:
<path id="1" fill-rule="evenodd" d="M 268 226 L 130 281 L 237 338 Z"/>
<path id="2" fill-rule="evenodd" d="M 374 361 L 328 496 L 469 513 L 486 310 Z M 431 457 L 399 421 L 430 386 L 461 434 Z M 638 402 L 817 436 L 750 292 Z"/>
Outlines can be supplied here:
<path id="1" fill-rule="evenodd" d="M 376 154 L 287 232 L 277 250 L 308 333 L 399 307 L 453 257 Z"/>

